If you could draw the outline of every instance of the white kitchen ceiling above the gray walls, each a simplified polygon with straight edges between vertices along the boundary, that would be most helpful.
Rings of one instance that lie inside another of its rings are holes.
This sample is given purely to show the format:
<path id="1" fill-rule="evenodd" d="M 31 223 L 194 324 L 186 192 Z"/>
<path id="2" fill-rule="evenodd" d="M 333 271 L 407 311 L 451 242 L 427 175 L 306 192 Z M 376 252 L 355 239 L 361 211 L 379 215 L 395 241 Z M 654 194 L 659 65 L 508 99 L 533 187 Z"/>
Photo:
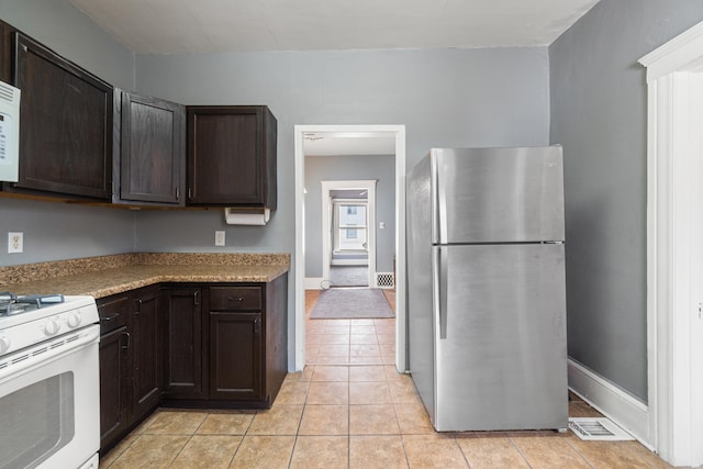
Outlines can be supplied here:
<path id="1" fill-rule="evenodd" d="M 70 0 L 137 54 L 549 45 L 598 0 Z"/>

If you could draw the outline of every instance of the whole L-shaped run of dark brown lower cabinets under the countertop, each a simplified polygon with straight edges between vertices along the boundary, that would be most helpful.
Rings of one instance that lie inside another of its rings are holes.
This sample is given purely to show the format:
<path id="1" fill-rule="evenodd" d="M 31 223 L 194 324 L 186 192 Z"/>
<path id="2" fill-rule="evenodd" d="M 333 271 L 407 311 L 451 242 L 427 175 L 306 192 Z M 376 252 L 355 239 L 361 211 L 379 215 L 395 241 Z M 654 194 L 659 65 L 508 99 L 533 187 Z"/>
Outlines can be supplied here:
<path id="1" fill-rule="evenodd" d="M 100 451 L 156 406 L 270 407 L 288 372 L 288 275 L 100 299 Z"/>

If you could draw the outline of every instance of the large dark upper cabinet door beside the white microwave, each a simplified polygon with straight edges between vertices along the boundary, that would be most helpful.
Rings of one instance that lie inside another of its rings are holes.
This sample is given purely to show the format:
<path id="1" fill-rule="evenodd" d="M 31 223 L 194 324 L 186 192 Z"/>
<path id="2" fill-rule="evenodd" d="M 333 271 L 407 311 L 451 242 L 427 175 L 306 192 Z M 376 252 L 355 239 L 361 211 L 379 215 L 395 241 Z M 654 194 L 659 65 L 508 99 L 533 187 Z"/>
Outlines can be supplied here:
<path id="1" fill-rule="evenodd" d="M 22 90 L 20 180 L 14 188 L 112 197 L 112 87 L 16 33 Z"/>

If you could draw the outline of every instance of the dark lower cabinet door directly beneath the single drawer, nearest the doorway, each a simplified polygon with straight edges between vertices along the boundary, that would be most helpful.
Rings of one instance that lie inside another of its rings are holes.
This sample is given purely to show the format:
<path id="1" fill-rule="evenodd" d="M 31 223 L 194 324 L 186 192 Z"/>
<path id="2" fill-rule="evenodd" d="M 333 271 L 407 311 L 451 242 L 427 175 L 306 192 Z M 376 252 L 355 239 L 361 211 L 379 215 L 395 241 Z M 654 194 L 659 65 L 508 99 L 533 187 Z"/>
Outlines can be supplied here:
<path id="1" fill-rule="evenodd" d="M 261 400 L 261 313 L 210 312 L 210 398 Z"/>

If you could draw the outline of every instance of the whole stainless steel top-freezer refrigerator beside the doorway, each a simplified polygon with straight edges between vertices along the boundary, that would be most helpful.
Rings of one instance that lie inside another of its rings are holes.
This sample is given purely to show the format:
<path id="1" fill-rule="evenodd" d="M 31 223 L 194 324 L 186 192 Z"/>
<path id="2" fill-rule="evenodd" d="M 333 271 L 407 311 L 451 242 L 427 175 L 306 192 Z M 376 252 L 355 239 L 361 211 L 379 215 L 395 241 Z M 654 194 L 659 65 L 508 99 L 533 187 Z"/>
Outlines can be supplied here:
<path id="1" fill-rule="evenodd" d="M 406 209 L 410 371 L 434 427 L 565 429 L 561 147 L 432 149 Z"/>

